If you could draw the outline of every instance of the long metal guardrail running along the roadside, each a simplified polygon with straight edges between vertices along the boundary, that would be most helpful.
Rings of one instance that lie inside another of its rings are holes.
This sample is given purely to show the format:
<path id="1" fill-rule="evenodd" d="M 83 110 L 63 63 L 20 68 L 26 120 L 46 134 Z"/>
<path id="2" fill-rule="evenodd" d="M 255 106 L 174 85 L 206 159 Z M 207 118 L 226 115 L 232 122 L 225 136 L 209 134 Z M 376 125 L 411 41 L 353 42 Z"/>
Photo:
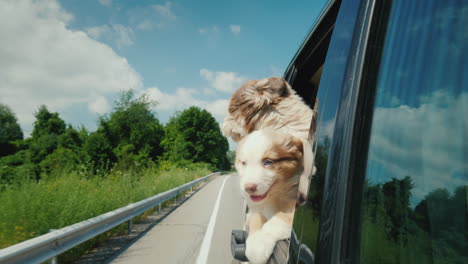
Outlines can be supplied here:
<path id="1" fill-rule="evenodd" d="M 176 199 L 183 191 L 220 174 L 212 173 L 142 201 L 2 249 L 0 263 L 40 263 L 51 259 L 126 221 L 129 221 L 130 227 L 133 217 L 156 206 L 160 209 L 161 203 Z"/>

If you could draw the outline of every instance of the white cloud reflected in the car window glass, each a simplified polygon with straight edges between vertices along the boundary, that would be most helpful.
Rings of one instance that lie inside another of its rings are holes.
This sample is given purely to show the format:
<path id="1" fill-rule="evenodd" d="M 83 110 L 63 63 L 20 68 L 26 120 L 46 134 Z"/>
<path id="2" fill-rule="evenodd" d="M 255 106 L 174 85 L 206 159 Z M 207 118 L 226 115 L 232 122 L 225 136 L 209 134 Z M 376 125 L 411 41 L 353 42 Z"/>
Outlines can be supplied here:
<path id="1" fill-rule="evenodd" d="M 394 177 L 415 181 L 414 198 L 436 188 L 465 185 L 468 177 L 468 93 L 437 91 L 411 107 L 379 107 L 374 112 L 369 158 Z M 370 177 L 378 173 L 369 172 Z M 465 177 L 460 177 L 463 174 Z"/>

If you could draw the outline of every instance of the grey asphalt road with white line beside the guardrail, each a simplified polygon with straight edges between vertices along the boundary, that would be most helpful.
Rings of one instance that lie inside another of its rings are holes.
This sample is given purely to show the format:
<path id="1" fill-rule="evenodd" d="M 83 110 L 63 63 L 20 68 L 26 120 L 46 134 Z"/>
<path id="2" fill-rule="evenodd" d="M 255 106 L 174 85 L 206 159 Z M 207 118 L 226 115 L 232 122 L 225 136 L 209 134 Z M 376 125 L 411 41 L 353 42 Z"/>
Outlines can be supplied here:
<path id="1" fill-rule="evenodd" d="M 219 176 L 111 263 L 235 263 L 231 230 L 243 229 L 244 212 L 238 176 Z"/>

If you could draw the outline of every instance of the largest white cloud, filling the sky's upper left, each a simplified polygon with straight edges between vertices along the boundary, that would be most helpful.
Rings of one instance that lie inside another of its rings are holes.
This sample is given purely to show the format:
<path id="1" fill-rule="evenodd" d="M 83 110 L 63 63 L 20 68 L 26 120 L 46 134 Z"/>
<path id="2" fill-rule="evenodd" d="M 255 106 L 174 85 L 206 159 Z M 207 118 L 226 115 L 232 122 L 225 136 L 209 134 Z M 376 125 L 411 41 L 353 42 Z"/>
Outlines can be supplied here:
<path id="1" fill-rule="evenodd" d="M 0 101 L 14 110 L 23 128 L 31 127 L 41 104 L 51 111 L 79 104 L 103 111 L 97 96 L 142 86 L 125 58 L 68 29 L 71 19 L 57 1 L 0 2 Z"/>

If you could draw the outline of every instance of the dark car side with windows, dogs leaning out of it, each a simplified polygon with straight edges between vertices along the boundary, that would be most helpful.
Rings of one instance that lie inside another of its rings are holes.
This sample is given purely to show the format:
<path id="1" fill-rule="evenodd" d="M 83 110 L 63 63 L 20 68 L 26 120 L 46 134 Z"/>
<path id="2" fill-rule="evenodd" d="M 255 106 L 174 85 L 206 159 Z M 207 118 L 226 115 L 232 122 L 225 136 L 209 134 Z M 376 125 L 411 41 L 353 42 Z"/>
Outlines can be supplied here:
<path id="1" fill-rule="evenodd" d="M 289 263 L 468 263 L 468 3 L 332 0 L 284 78 L 317 175 Z"/>

